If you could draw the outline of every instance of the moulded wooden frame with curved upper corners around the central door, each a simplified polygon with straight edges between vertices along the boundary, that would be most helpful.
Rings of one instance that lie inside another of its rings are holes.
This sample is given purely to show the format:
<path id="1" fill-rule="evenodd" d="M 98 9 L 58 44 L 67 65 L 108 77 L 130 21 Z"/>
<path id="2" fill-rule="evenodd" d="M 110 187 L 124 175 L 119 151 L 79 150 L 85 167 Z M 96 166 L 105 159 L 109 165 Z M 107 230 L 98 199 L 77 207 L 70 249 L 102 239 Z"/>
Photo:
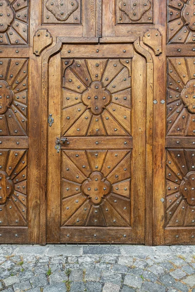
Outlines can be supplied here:
<path id="1" fill-rule="evenodd" d="M 131 40 L 131 41 L 129 41 Z M 151 48 L 146 46 L 143 42 L 143 37 L 132 37 L 126 41 L 120 43 L 132 43 L 134 50 L 137 54 L 144 57 L 146 61 L 146 200 L 145 200 L 145 229 L 150 232 L 146 232 L 145 244 L 153 244 L 153 109 L 154 109 L 154 96 L 153 88 L 154 82 L 157 84 L 160 83 L 159 80 L 154 80 L 153 78 L 153 59 L 155 54 Z M 98 43 L 116 43 L 116 38 L 113 39 L 103 39 L 98 38 L 71 38 L 71 37 L 57 37 L 53 41 L 52 48 L 45 52 L 42 56 L 42 90 L 41 90 L 41 157 L 40 157 L 40 205 L 41 205 L 41 214 L 40 214 L 40 229 L 39 229 L 39 243 L 46 244 L 46 194 L 47 194 L 47 137 L 48 137 L 48 97 L 49 97 L 49 61 L 52 56 L 58 54 L 63 44 L 98 44 Z M 156 86 L 156 84 L 155 84 Z M 161 103 L 162 105 L 162 103 Z"/>

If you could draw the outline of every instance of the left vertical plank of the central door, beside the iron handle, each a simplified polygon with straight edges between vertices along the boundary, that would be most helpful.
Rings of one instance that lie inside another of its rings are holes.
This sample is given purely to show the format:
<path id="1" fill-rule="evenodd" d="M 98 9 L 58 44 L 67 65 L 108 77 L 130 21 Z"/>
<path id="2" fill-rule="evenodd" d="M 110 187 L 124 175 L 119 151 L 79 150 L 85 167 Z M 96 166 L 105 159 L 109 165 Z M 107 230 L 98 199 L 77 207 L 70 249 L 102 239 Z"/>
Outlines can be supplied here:
<path id="1" fill-rule="evenodd" d="M 48 126 L 47 165 L 47 242 L 59 242 L 60 237 L 60 178 L 61 151 L 55 149 L 56 137 L 61 137 L 61 64 L 60 54 L 49 62 L 49 113 L 54 123 Z"/>

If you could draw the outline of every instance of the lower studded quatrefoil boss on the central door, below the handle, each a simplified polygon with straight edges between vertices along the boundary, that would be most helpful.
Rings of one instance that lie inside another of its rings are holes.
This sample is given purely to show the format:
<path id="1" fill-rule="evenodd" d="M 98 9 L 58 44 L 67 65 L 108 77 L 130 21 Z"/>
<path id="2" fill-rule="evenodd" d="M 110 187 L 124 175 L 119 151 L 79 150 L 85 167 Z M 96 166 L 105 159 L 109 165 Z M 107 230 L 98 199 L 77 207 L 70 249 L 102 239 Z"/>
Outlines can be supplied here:
<path id="1" fill-rule="evenodd" d="M 112 190 L 112 185 L 101 172 L 92 172 L 90 177 L 82 184 L 82 191 L 89 196 L 93 204 L 98 205 Z"/>

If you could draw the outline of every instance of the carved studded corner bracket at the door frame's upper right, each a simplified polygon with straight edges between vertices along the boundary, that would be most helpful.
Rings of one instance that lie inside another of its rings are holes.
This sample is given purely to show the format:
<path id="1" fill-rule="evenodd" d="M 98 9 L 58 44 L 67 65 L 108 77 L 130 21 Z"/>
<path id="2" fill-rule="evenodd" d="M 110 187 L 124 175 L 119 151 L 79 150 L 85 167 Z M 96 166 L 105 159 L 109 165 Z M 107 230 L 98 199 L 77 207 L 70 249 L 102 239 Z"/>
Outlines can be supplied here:
<path id="1" fill-rule="evenodd" d="M 157 29 L 149 29 L 143 37 L 143 42 L 154 51 L 156 56 L 162 53 L 162 36 Z"/>

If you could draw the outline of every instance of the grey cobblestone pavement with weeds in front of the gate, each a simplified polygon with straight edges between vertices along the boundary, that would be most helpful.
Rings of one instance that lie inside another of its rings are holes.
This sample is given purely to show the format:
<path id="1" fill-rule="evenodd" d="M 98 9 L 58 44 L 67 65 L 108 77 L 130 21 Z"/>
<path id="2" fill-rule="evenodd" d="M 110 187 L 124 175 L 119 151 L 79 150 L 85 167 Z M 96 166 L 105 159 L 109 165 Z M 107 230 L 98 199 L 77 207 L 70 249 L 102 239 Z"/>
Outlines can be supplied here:
<path id="1" fill-rule="evenodd" d="M 3 292 L 195 292 L 195 246 L 0 245 Z"/>

